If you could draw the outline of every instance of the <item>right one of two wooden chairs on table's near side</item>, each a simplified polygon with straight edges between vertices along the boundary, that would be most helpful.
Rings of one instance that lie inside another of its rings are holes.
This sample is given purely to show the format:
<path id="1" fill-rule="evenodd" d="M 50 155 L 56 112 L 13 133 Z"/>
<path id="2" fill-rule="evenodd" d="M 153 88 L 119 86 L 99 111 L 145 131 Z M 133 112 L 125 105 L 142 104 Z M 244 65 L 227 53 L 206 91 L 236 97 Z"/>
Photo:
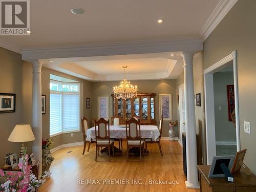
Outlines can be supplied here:
<path id="1" fill-rule="evenodd" d="M 128 160 L 130 147 L 139 147 L 140 151 L 140 161 L 141 161 L 141 147 L 143 148 L 143 158 L 144 158 L 144 140 L 141 139 L 140 132 L 140 121 L 135 118 L 131 118 L 126 121 L 126 140 L 127 140 L 127 158 Z"/>

